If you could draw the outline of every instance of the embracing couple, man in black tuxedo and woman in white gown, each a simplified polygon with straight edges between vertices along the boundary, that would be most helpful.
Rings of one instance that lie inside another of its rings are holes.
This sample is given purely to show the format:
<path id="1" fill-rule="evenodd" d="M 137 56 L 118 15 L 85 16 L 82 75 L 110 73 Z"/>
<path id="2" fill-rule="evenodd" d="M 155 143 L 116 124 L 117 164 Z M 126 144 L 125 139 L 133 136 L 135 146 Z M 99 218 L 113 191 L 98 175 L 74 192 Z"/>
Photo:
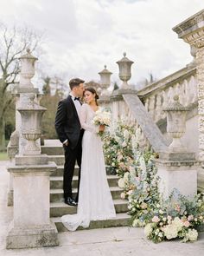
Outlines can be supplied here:
<path id="1" fill-rule="evenodd" d="M 65 152 L 63 176 L 64 202 L 77 207 L 76 214 L 61 217 L 68 230 L 88 227 L 90 220 L 108 220 L 116 216 L 112 194 L 105 173 L 102 141 L 98 135 L 103 125 L 92 123 L 99 109 L 95 89 L 84 89 L 84 81 L 70 80 L 67 99 L 59 102 L 55 128 Z M 86 103 L 81 104 L 84 97 Z M 78 192 L 73 199 L 72 181 L 75 163 L 79 168 Z"/>

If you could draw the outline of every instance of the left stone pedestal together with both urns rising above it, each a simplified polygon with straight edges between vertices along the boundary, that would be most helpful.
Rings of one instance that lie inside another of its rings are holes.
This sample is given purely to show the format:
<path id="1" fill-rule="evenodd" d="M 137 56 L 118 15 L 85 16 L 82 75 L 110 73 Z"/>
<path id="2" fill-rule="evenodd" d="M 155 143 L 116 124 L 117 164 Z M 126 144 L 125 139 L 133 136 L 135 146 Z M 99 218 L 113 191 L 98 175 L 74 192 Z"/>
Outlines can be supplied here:
<path id="1" fill-rule="evenodd" d="M 22 90 L 17 110 L 21 115 L 25 147 L 8 167 L 14 187 L 13 220 L 6 238 L 8 249 L 59 244 L 56 226 L 49 218 L 49 175 L 54 172 L 56 165 L 48 161 L 47 154 L 41 154 L 38 143 L 41 117 L 46 108 L 37 104 L 30 82 L 35 74 L 36 58 L 30 55 L 29 50 L 22 58 L 26 65 L 22 62 Z"/>

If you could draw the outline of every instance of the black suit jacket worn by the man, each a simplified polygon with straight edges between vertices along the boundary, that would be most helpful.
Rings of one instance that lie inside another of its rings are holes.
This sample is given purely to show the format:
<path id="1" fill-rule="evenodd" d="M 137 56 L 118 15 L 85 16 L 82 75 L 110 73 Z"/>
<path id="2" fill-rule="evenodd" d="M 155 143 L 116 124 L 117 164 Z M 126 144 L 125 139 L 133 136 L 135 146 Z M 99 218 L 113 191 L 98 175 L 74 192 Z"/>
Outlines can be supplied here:
<path id="1" fill-rule="evenodd" d="M 75 148 L 80 139 L 80 119 L 77 115 L 71 95 L 58 104 L 55 117 L 55 129 L 63 143 L 68 140 L 71 148 Z"/>

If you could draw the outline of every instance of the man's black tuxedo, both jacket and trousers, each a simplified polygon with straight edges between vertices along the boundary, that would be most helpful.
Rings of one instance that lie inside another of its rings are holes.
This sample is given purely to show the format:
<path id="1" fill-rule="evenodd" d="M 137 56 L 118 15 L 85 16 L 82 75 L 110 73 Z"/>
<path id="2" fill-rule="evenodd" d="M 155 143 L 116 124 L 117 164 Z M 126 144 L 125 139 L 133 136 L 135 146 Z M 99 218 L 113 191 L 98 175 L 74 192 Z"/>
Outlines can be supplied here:
<path id="1" fill-rule="evenodd" d="M 79 167 L 81 164 L 81 140 L 83 130 L 80 128 L 80 119 L 77 110 L 74 106 L 71 95 L 67 99 L 62 100 L 58 104 L 58 109 L 55 117 L 55 129 L 61 143 L 68 141 L 68 146 L 63 146 L 65 150 L 65 165 L 64 165 L 64 198 L 72 197 L 72 181 L 75 162 Z M 78 181 L 78 194 L 80 186 L 80 171 Z M 78 200 L 78 194 L 76 200 Z"/>

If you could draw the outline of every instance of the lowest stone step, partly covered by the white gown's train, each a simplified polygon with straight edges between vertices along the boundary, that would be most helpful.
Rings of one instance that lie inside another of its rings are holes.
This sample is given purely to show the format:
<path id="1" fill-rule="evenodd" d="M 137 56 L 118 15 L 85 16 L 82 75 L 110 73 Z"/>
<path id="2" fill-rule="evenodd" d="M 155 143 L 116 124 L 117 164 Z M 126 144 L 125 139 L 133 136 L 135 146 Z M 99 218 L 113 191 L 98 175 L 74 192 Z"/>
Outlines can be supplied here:
<path id="1" fill-rule="evenodd" d="M 111 226 L 129 226 L 130 223 L 130 215 L 127 213 L 117 213 L 116 218 L 112 220 L 92 220 L 88 229 L 93 228 L 105 228 Z M 67 232 L 67 228 L 62 224 L 61 218 L 52 218 L 54 221 L 58 232 Z M 77 230 L 84 229 L 80 226 Z"/>

